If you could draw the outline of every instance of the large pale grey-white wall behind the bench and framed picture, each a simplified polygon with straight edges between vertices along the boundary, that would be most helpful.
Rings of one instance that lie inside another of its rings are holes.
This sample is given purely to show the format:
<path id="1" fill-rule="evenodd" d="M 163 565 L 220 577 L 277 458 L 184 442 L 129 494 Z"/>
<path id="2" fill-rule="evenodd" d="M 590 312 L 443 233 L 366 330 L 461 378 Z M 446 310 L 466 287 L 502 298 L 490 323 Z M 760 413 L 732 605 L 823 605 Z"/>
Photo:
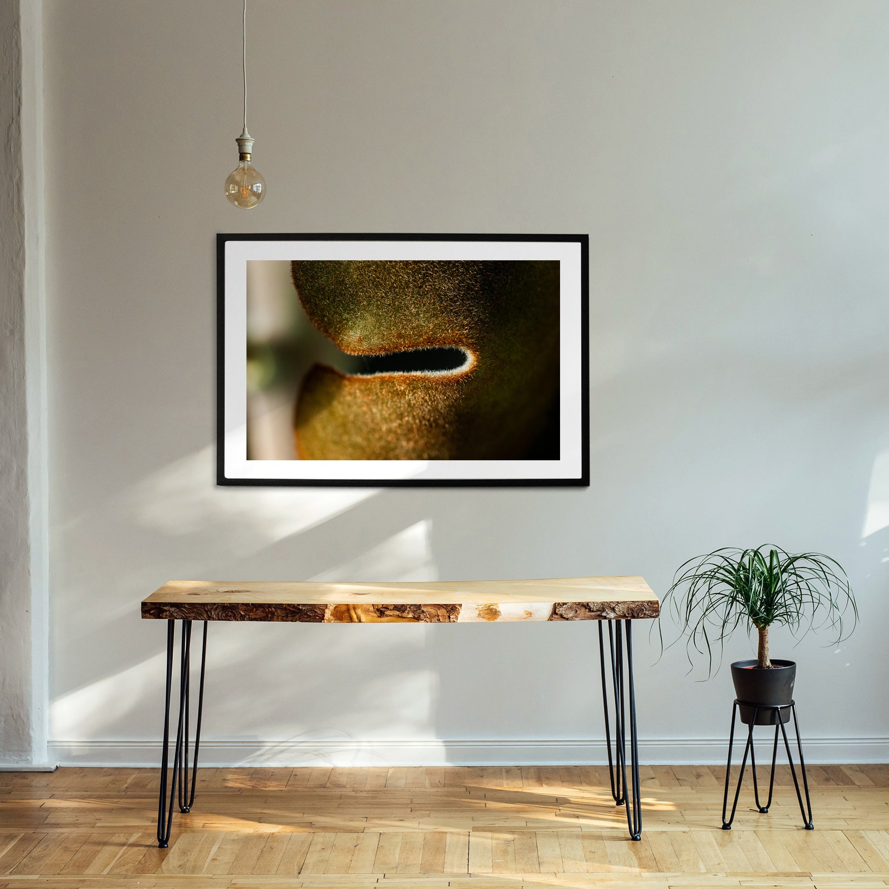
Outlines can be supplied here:
<path id="1" fill-rule="evenodd" d="M 813 759 L 889 758 L 889 6 L 256 0 L 268 198 L 230 207 L 238 0 L 47 0 L 52 737 L 156 762 L 171 579 L 641 573 L 776 541 L 861 627 L 800 662 Z M 213 485 L 219 231 L 589 232 L 585 490 Z M 600 760 L 593 625 L 213 625 L 207 761 Z M 648 761 L 731 684 L 637 628 Z M 746 656 L 746 639 L 726 662 Z M 389 743 L 391 742 L 391 743 Z"/>

